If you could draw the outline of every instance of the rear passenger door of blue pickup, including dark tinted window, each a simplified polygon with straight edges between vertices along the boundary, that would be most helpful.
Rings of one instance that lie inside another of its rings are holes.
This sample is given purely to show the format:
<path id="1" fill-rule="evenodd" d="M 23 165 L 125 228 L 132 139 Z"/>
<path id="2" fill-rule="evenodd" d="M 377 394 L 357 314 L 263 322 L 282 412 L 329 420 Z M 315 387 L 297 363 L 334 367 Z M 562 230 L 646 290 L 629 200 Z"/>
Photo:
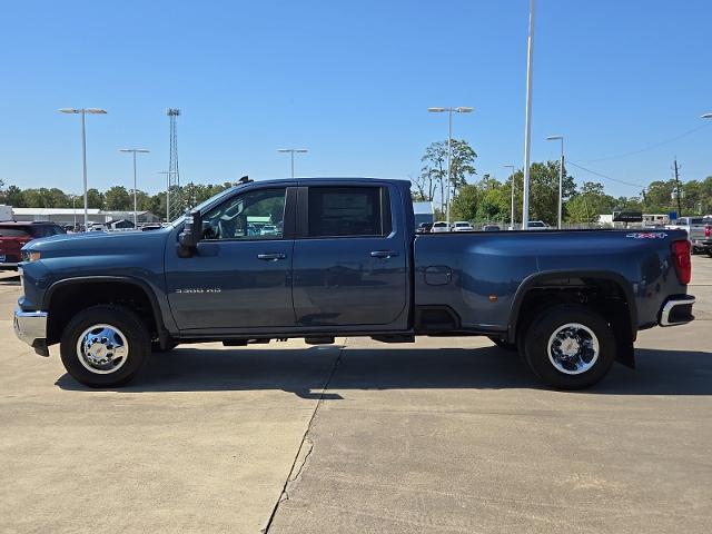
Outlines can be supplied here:
<path id="1" fill-rule="evenodd" d="M 407 326 L 408 249 L 392 217 L 395 196 L 387 185 L 299 188 L 293 260 L 299 326 Z"/>

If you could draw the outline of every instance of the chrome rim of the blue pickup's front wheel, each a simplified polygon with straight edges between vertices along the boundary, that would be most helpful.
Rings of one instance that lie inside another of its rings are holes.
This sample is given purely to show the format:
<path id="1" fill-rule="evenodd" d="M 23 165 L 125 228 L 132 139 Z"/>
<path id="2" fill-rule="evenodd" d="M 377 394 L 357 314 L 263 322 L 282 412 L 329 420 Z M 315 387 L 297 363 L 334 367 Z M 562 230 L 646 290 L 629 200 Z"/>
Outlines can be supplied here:
<path id="1" fill-rule="evenodd" d="M 116 326 L 92 325 L 77 340 L 77 357 L 81 365 L 97 375 L 116 373 L 126 364 L 129 343 Z"/>

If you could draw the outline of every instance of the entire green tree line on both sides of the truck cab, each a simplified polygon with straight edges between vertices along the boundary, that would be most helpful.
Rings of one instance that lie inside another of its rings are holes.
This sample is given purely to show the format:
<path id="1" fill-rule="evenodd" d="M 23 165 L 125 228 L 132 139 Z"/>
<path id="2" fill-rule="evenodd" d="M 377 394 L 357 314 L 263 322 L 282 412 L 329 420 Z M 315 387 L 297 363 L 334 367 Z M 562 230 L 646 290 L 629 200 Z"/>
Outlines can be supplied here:
<path id="1" fill-rule="evenodd" d="M 452 140 L 451 184 L 453 198 L 451 218 L 485 224 L 508 221 L 514 181 L 515 222 L 522 217 L 522 188 L 524 174 L 517 170 L 505 180 L 491 175 L 477 179 L 475 160 L 477 154 L 465 140 Z M 413 199 L 435 204 L 436 217 L 445 211 L 447 182 L 447 141 L 431 144 L 421 158 L 423 167 L 416 178 L 412 178 Z M 531 167 L 530 219 L 556 224 L 558 209 L 558 161 L 534 162 Z M 172 190 L 171 202 L 180 199 L 181 209 L 188 209 L 207 198 L 231 187 L 233 184 L 194 184 Z M 690 180 L 680 185 L 680 205 L 683 216 L 712 214 L 712 176 L 704 180 Z M 678 182 L 651 182 L 639 196 L 613 197 L 597 181 L 576 185 L 574 177 L 564 168 L 563 217 L 571 224 L 597 222 L 599 215 L 614 210 L 643 211 L 645 214 L 668 214 L 678 210 Z M 166 192 L 155 195 L 137 190 L 140 211 L 151 211 L 164 217 Z M 134 209 L 134 191 L 123 186 L 113 186 L 105 191 L 92 188 L 87 191 L 89 208 L 130 211 Z M 21 189 L 16 185 L 4 187 L 0 180 L 0 204 L 18 208 L 83 208 L 82 195 L 71 195 L 59 188 Z"/>

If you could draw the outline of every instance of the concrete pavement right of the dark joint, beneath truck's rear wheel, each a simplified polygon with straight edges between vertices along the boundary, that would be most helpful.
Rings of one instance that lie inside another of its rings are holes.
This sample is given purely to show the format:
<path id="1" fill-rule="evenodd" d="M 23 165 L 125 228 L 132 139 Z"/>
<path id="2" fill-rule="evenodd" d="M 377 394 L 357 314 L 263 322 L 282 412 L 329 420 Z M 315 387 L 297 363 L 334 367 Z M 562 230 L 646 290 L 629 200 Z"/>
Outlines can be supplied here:
<path id="1" fill-rule="evenodd" d="M 710 532 L 712 259 L 637 369 L 540 387 L 483 339 L 349 339 L 270 533 Z M 377 347 L 377 349 L 375 349 Z"/>

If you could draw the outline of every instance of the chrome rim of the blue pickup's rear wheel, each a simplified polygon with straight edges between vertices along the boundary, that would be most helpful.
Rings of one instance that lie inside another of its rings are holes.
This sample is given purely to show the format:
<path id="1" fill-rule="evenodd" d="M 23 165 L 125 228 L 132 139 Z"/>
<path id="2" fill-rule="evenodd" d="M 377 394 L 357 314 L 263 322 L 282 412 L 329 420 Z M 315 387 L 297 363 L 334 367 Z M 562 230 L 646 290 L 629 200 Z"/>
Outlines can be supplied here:
<path id="1" fill-rule="evenodd" d="M 599 360 L 599 338 L 580 323 L 566 323 L 556 328 L 546 348 L 548 360 L 566 375 L 581 375 Z"/>

